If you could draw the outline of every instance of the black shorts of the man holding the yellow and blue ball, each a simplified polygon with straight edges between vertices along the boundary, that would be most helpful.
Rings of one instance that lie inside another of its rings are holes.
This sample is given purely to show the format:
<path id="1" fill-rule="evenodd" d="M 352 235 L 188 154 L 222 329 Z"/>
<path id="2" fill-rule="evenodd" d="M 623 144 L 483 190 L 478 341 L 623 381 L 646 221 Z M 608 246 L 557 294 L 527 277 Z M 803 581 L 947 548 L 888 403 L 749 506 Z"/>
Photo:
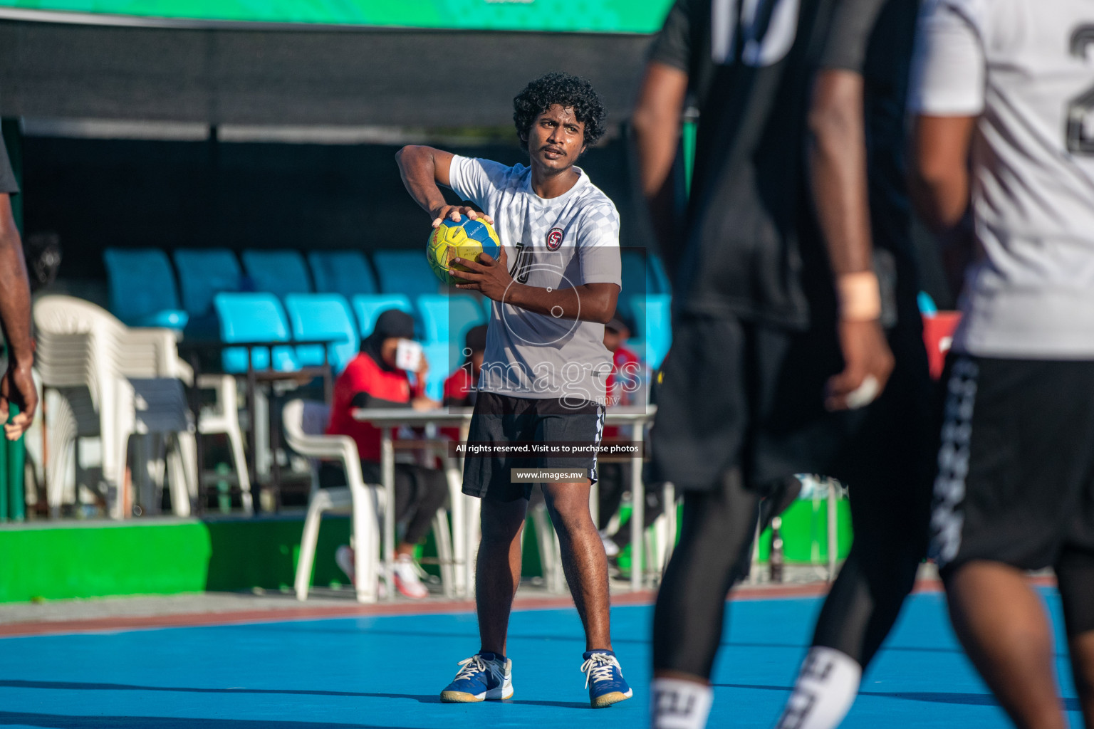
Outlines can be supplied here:
<path id="1" fill-rule="evenodd" d="M 514 398 L 479 392 L 475 401 L 468 440 L 568 442 L 600 445 L 604 433 L 604 405 L 572 398 Z M 596 456 L 473 456 L 464 459 L 464 489 L 468 496 L 496 502 L 528 498 L 537 482 L 512 482 L 516 468 L 566 468 L 583 470 L 596 482 Z"/>

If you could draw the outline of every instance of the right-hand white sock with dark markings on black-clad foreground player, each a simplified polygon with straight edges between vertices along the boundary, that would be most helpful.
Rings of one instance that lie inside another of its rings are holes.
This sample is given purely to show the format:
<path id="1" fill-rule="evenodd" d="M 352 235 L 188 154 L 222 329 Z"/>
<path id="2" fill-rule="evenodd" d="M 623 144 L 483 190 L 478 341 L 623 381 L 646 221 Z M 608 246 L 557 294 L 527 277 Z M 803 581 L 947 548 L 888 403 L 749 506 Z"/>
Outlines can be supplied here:
<path id="1" fill-rule="evenodd" d="M 847 654 L 814 646 L 776 729 L 835 729 L 859 693 L 862 667 Z"/>

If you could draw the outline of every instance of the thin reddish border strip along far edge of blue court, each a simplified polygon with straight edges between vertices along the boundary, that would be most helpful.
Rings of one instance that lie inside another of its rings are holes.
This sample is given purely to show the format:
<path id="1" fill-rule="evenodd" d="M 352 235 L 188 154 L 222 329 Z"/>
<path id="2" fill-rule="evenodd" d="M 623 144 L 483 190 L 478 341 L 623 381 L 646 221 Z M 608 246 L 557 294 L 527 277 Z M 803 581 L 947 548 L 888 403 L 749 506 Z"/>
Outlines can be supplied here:
<path id="1" fill-rule="evenodd" d="M 1055 587 L 1055 577 L 1032 577 L 1038 587 Z M 768 585 L 761 587 L 740 587 L 731 593 L 731 600 L 771 600 L 780 598 L 817 597 L 828 590 L 827 583 L 808 585 Z M 936 579 L 921 579 L 916 584 L 917 592 L 939 592 L 942 583 Z M 624 592 L 612 596 L 612 604 L 651 604 L 655 592 Z M 550 610 L 569 608 L 573 601 L 567 596 L 551 598 L 517 598 L 513 610 Z M 383 615 L 429 615 L 438 613 L 475 612 L 473 600 L 449 600 L 430 602 L 380 602 L 342 605 L 271 608 L 267 610 L 240 610 L 232 612 L 181 613 L 175 615 L 132 615 L 118 618 L 92 618 L 88 620 L 38 621 L 0 624 L 0 638 L 36 635 L 68 635 L 73 633 L 103 633 L 154 630 L 160 627 L 199 627 L 205 625 L 240 625 L 245 623 L 283 623 L 302 620 L 326 620 L 334 618 L 371 618 Z"/>

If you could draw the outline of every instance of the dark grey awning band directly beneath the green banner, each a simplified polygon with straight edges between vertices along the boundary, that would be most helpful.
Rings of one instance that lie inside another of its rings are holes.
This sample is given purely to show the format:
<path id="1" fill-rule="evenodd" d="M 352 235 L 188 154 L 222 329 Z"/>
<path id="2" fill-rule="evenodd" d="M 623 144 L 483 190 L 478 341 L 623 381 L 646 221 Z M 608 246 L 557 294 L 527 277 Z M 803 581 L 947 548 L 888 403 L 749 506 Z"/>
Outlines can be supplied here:
<path id="1" fill-rule="evenodd" d="M 398 1 L 398 0 L 394 0 Z M 630 113 L 650 36 L 0 21 L 9 116 L 208 125 L 492 127 L 548 71 Z"/>

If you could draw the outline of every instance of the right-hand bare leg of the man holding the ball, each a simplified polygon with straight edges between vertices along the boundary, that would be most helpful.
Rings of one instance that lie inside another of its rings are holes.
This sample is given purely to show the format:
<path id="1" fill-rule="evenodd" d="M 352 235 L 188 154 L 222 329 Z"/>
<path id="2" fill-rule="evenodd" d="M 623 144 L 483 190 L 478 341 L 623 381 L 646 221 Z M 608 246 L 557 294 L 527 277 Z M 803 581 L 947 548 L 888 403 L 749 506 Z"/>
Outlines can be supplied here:
<path id="1" fill-rule="evenodd" d="M 562 552 L 562 572 L 585 626 L 585 650 L 610 650 L 608 562 L 589 512 L 591 483 L 551 483 L 544 496 Z"/>

